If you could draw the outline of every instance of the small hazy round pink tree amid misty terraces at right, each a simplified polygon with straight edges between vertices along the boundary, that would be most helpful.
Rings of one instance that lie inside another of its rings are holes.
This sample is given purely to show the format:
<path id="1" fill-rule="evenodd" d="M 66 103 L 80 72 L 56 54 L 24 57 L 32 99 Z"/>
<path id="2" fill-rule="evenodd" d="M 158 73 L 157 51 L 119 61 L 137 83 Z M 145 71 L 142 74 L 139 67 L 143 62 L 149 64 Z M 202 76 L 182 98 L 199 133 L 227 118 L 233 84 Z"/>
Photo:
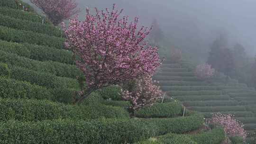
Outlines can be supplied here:
<path id="1" fill-rule="evenodd" d="M 195 75 L 200 80 L 206 80 L 213 76 L 215 70 L 209 64 L 199 64 L 195 69 Z"/>

